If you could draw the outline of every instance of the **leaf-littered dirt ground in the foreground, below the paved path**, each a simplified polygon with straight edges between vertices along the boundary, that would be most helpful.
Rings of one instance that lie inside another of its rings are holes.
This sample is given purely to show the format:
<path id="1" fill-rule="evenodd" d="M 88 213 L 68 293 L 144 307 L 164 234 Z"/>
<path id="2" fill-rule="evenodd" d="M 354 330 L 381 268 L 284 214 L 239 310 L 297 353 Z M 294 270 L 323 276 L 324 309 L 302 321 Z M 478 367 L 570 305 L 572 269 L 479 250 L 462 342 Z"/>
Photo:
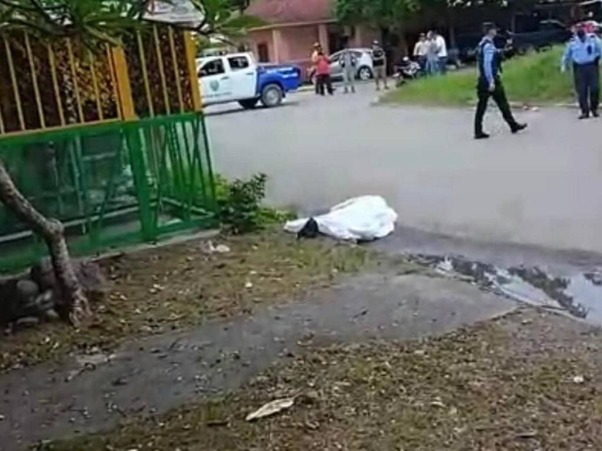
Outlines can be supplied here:
<path id="1" fill-rule="evenodd" d="M 307 349 L 210 402 L 38 449 L 599 449 L 601 337 L 524 308 L 439 339 Z M 290 409 L 245 421 L 285 397 Z"/>

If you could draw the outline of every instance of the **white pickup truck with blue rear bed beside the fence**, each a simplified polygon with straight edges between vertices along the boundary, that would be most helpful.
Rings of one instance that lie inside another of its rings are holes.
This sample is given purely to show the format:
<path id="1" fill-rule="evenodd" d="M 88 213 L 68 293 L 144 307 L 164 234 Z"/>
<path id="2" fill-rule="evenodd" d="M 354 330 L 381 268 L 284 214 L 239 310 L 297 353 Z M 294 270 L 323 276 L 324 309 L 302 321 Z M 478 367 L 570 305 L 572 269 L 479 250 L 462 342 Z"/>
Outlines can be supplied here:
<path id="1" fill-rule="evenodd" d="M 203 105 L 238 102 L 254 108 L 261 100 L 277 106 L 301 84 L 299 67 L 257 64 L 250 53 L 197 58 L 196 69 Z"/>

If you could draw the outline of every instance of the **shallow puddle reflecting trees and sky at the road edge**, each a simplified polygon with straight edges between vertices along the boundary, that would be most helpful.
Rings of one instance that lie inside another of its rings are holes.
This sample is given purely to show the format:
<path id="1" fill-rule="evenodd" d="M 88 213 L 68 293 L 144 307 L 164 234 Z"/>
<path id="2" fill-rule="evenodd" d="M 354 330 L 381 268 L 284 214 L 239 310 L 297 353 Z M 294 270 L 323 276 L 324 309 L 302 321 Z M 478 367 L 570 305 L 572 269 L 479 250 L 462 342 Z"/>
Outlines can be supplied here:
<path id="1" fill-rule="evenodd" d="M 602 325 L 602 273 L 556 277 L 538 267 L 498 268 L 456 256 L 417 254 L 412 259 L 439 274 L 476 284 L 492 292 L 539 307 L 565 310 Z"/>

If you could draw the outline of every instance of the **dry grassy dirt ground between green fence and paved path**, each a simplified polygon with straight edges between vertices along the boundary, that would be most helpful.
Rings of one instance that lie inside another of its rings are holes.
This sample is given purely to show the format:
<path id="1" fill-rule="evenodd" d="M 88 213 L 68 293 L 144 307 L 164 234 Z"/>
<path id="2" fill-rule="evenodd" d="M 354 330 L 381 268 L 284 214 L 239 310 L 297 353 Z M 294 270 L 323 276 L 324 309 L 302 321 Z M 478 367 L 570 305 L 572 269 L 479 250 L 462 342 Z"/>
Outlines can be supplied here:
<path id="1" fill-rule="evenodd" d="M 73 330 L 48 323 L 0 336 L 0 372 L 251 314 L 256 306 L 330 286 L 339 274 L 370 261 L 364 248 L 326 239 L 296 241 L 273 230 L 214 238 L 213 247 L 219 245 L 229 251 L 210 251 L 201 240 L 103 260 L 110 292 L 93 306 L 92 324 Z"/>

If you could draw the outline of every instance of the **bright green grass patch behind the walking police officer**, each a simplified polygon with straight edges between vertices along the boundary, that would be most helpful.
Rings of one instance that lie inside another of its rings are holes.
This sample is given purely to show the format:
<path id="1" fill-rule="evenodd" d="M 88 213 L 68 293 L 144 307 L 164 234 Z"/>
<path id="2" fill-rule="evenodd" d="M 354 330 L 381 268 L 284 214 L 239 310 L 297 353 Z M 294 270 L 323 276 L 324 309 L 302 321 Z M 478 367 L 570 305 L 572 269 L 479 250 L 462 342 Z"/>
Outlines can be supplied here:
<path id="1" fill-rule="evenodd" d="M 517 57 L 504 64 L 502 80 L 511 102 L 573 102 L 573 76 L 560 73 L 563 49 Z M 476 68 L 410 82 L 383 102 L 424 105 L 467 105 L 476 102 Z"/>

